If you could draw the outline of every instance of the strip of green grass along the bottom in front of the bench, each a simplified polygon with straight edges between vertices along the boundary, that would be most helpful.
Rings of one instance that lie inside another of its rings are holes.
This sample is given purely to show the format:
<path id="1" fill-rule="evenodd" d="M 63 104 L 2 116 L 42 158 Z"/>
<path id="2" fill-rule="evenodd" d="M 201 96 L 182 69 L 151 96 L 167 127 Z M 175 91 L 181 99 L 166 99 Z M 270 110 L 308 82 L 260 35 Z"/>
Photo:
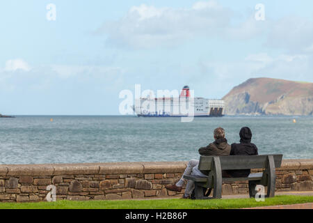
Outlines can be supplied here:
<path id="1" fill-rule="evenodd" d="M 56 201 L 37 203 L 0 203 L 0 208 L 8 209 L 218 209 L 250 208 L 257 206 L 274 206 L 292 203 L 312 203 L 313 196 L 283 195 L 262 201 L 255 199 L 149 199 L 124 201 Z"/>

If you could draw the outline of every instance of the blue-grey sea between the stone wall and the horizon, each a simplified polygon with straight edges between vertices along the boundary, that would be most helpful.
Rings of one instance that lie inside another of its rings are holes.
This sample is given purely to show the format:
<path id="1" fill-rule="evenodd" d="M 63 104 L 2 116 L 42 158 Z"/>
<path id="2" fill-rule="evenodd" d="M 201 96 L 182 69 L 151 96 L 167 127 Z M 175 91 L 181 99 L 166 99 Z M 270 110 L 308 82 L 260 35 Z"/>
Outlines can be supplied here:
<path id="1" fill-rule="evenodd" d="M 54 121 L 50 121 L 53 118 Z M 296 118 L 296 123 L 293 119 Z M 137 118 L 132 116 L 17 116 L 0 118 L 1 164 L 177 161 L 223 127 L 230 143 L 248 126 L 260 154 L 313 158 L 313 117 Z"/>

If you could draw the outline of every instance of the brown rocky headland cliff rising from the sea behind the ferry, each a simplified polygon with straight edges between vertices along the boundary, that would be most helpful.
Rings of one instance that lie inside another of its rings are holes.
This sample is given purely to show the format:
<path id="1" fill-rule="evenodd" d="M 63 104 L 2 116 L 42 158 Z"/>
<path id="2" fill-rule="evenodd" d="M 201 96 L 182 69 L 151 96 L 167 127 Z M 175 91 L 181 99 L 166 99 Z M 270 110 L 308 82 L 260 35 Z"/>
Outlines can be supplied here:
<path id="1" fill-rule="evenodd" d="M 225 114 L 313 114 L 313 83 L 251 78 L 223 97 Z"/>

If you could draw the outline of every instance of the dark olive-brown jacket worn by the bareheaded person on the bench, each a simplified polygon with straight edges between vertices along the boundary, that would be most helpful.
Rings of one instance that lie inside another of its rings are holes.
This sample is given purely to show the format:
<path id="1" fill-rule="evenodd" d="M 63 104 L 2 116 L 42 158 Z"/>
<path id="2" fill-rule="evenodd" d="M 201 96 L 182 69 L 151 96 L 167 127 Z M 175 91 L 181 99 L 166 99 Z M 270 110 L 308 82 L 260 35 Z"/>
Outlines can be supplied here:
<path id="1" fill-rule="evenodd" d="M 227 144 L 227 139 L 216 139 L 209 146 L 199 148 L 200 155 L 230 155 L 230 144 Z M 208 171 L 201 171 L 207 175 Z"/>

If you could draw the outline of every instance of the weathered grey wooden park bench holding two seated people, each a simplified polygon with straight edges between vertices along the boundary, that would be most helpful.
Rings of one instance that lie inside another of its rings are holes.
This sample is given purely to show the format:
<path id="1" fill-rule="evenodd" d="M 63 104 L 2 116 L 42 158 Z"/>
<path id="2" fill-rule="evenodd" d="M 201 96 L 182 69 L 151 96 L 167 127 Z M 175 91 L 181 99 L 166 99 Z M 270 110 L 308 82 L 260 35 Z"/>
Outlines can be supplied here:
<path id="1" fill-rule="evenodd" d="M 214 189 L 213 198 L 222 197 L 222 183 L 248 180 L 249 195 L 255 197 L 256 185 L 267 186 L 266 197 L 275 195 L 275 167 L 280 167 L 282 163 L 282 154 L 274 155 L 228 155 L 228 156 L 201 156 L 198 169 L 209 171 L 209 176 L 200 177 L 193 175 L 184 175 L 187 180 L 193 180 L 195 183 L 195 199 L 208 199 L 204 196 L 205 191 Z M 239 169 L 264 169 L 263 172 L 250 174 L 247 177 L 230 178 L 223 177 L 223 170 Z"/>

